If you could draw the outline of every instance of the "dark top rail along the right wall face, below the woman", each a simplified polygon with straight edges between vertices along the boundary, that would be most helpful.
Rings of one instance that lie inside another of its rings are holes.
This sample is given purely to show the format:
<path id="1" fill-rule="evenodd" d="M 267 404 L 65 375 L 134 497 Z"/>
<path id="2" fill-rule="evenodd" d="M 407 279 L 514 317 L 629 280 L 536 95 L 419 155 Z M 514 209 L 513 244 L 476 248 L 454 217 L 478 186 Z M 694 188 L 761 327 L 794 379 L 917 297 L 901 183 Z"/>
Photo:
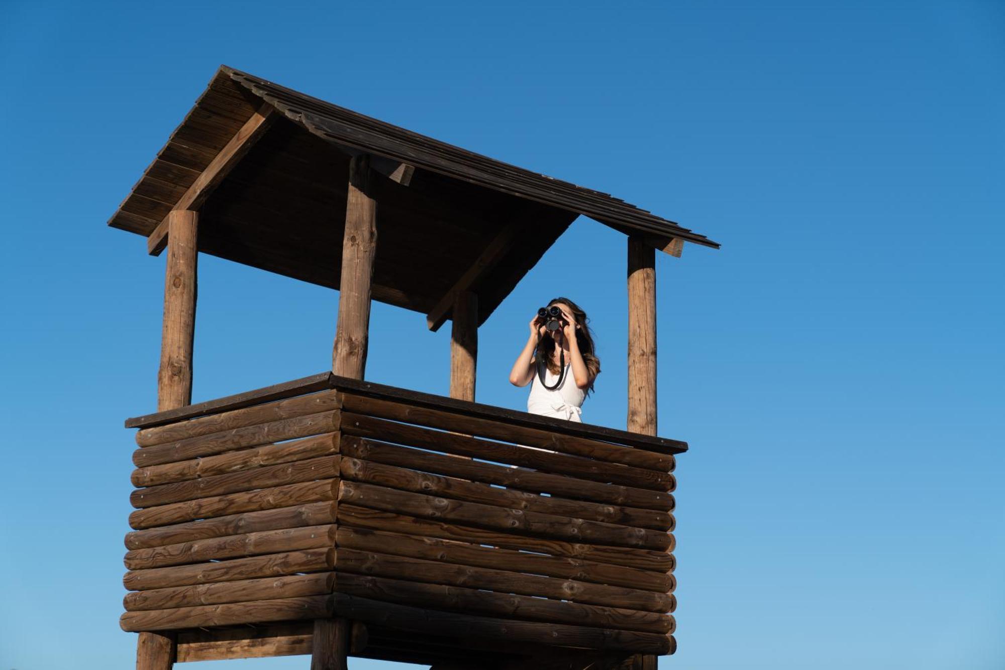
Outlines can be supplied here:
<path id="1" fill-rule="evenodd" d="M 465 402 L 442 395 L 375 384 L 371 381 L 360 381 L 334 376 L 331 383 L 333 388 L 338 388 L 344 392 L 343 405 L 349 411 L 359 410 L 356 408 L 356 405 L 351 407 L 348 403 L 355 402 L 356 398 L 359 397 L 367 397 L 376 400 L 387 400 L 397 404 L 408 405 L 409 407 L 448 412 L 463 417 L 488 419 L 506 422 L 514 426 L 537 428 L 557 435 L 573 435 L 623 446 L 633 446 L 638 449 L 655 451 L 657 453 L 672 454 L 687 450 L 687 443 L 679 440 L 642 435 L 589 423 L 566 421 L 565 419 L 541 416 L 539 414 L 493 407 L 480 403 Z M 465 432 L 467 432 L 466 429 Z M 539 445 L 535 444 L 535 446 Z"/>

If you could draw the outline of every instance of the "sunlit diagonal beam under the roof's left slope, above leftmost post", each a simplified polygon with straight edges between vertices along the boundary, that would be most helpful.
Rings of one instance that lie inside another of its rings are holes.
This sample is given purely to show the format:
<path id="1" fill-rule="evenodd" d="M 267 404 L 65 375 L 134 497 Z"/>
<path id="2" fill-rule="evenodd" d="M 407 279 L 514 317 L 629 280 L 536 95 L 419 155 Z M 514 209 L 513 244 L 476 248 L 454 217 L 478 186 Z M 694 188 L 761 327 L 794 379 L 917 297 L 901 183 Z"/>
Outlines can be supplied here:
<path id="1" fill-rule="evenodd" d="M 231 137 L 230 141 L 220 149 L 206 170 L 189 187 L 188 191 L 175 204 L 173 211 L 194 210 L 198 211 L 202 204 L 206 202 L 209 195 L 223 182 L 223 179 L 230 173 L 241 157 L 248 152 L 254 143 L 265 133 L 265 130 L 276 119 L 279 112 L 275 107 L 263 103 L 256 112 L 251 114 L 251 118 L 241 126 L 241 128 Z M 170 216 L 170 214 L 168 215 Z M 158 256 L 168 243 L 170 231 L 168 230 L 168 217 L 154 229 L 154 232 L 147 238 L 147 252 L 151 256 Z"/>

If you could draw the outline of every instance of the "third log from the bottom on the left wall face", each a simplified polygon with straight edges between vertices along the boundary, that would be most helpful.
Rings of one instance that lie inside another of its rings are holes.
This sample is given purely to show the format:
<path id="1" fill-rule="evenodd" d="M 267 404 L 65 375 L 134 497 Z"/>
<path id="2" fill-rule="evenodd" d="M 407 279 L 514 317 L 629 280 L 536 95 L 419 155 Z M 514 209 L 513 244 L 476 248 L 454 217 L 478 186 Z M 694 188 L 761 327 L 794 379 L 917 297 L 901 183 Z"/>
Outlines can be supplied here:
<path id="1" fill-rule="evenodd" d="M 297 573 L 317 573 L 331 571 L 334 568 L 334 549 L 309 549 L 247 559 L 199 563 L 191 566 L 135 570 L 126 573 L 123 585 L 128 591 L 146 591 L 148 589 L 208 584 L 209 582 L 236 582 L 256 577 L 282 577 Z"/>

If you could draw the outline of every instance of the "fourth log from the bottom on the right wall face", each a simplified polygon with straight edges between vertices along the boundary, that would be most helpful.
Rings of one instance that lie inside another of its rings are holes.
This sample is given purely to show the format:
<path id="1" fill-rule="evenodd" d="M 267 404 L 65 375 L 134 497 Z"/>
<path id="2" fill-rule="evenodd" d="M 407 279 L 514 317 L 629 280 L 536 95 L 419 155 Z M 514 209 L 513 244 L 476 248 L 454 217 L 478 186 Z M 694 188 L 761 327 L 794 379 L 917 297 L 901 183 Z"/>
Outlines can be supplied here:
<path id="1" fill-rule="evenodd" d="M 667 593 L 673 590 L 673 578 L 665 573 L 440 538 L 340 526 L 336 534 L 336 544 L 339 547 L 363 552 L 609 584 L 641 591 Z"/>

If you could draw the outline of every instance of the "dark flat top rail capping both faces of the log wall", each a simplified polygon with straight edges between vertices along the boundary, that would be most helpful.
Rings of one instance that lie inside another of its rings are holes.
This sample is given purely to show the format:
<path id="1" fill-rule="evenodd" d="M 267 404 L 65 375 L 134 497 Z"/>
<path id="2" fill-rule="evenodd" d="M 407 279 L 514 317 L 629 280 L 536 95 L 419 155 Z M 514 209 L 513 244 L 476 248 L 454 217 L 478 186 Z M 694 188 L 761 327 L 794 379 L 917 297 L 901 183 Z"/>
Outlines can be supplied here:
<path id="1" fill-rule="evenodd" d="M 478 402 L 457 400 L 455 398 L 434 395 L 432 393 L 422 393 L 420 391 L 412 391 L 404 388 L 398 388 L 396 386 L 376 384 L 370 381 L 349 379 L 347 377 L 336 376 L 331 372 L 323 372 L 321 374 L 311 375 L 310 377 L 303 377 L 300 379 L 294 379 L 293 381 L 274 384 L 272 386 L 266 386 L 264 388 L 246 391 L 235 395 L 228 395 L 214 400 L 207 400 L 205 402 L 199 402 L 194 405 L 188 405 L 178 409 L 136 416 L 126 419 L 126 427 L 149 428 L 155 425 L 174 423 L 176 421 L 196 418 L 198 416 L 217 414 L 232 409 L 240 409 L 241 407 L 258 405 L 307 393 L 314 393 L 328 388 L 335 388 L 355 395 L 365 395 L 368 397 L 393 400 L 416 407 L 426 407 L 441 411 L 456 412 L 465 416 L 502 421 L 514 425 L 539 428 L 565 435 L 588 437 L 617 444 L 624 444 L 627 446 L 635 446 L 652 451 L 660 451 L 663 453 L 680 453 L 687 450 L 687 443 L 680 440 L 643 435 L 636 432 L 618 430 L 616 428 L 607 428 L 589 423 L 566 421 L 547 416 L 540 416 L 538 414 L 531 414 L 529 412 L 517 411 L 514 409 L 485 405 Z"/>

